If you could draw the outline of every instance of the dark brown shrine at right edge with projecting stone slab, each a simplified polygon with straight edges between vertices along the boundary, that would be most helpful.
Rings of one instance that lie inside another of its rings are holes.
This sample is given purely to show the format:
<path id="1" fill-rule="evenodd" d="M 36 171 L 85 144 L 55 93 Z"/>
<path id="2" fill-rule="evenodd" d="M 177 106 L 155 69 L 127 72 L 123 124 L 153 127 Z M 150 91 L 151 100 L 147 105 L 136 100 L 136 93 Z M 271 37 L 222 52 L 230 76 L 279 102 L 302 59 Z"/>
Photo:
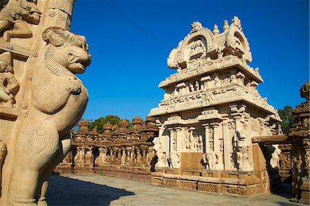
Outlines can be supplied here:
<path id="1" fill-rule="evenodd" d="M 310 174 L 310 81 L 300 88 L 306 102 L 291 110 L 296 115 L 296 125 L 288 135 L 255 136 L 253 143 L 260 144 L 267 161 L 271 191 L 281 190 L 282 182 L 292 184 L 291 198 L 309 205 Z M 272 147 L 274 147 L 272 149 Z M 271 149 L 271 150 L 270 150 Z"/>

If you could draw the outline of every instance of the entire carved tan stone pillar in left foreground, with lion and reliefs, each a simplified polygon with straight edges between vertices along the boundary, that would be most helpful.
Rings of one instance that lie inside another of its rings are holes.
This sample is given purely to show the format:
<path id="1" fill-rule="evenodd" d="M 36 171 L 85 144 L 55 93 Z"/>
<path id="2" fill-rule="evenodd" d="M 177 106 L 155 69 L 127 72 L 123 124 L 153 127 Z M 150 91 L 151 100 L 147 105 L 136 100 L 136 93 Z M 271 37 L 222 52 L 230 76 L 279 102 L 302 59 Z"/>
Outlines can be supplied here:
<path id="1" fill-rule="evenodd" d="M 75 76 L 90 54 L 72 34 L 74 0 L 0 3 L 0 205 L 47 205 L 48 178 L 87 105 Z"/>

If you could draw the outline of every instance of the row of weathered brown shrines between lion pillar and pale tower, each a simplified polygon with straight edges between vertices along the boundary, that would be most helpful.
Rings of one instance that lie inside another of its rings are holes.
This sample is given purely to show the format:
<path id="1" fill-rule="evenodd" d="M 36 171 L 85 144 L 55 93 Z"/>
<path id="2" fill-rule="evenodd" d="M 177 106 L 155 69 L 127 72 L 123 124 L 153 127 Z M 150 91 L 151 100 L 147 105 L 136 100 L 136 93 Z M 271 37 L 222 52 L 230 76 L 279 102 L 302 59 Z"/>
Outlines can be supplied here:
<path id="1" fill-rule="evenodd" d="M 119 127 L 103 126 L 103 134 L 87 129 L 85 120 L 72 132 L 72 149 L 55 172 L 96 173 L 109 176 L 149 180 L 154 166 L 153 139 L 158 136 L 154 119 L 132 119 L 132 128 L 123 120 Z"/>

